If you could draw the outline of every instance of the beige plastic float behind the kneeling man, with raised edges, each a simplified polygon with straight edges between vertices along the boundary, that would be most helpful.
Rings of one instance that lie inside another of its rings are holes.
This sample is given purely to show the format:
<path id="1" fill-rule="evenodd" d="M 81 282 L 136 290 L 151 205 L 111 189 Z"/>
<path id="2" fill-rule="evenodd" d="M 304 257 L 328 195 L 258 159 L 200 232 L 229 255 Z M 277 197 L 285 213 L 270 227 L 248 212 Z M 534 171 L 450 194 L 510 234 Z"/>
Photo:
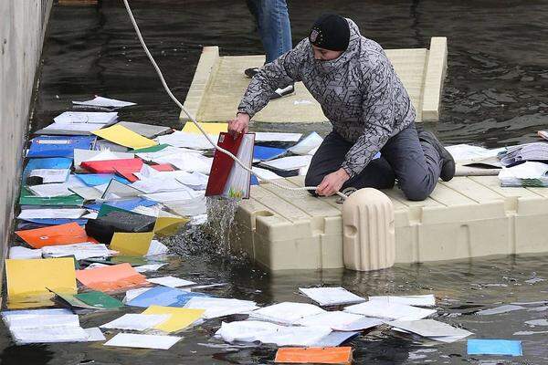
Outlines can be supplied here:
<path id="1" fill-rule="evenodd" d="M 430 49 L 387 49 L 395 72 L 402 79 L 416 109 L 416 120 L 438 120 L 439 102 L 447 69 L 446 37 L 432 37 Z M 227 121 L 234 118 L 237 105 L 248 88 L 246 68 L 264 63 L 264 56 L 219 57 L 218 47 L 204 47 L 184 108 L 198 121 Z M 188 117 L 181 113 L 181 120 Z M 262 122 L 325 122 L 320 104 L 302 83 L 295 93 L 269 102 L 253 118 Z"/>

